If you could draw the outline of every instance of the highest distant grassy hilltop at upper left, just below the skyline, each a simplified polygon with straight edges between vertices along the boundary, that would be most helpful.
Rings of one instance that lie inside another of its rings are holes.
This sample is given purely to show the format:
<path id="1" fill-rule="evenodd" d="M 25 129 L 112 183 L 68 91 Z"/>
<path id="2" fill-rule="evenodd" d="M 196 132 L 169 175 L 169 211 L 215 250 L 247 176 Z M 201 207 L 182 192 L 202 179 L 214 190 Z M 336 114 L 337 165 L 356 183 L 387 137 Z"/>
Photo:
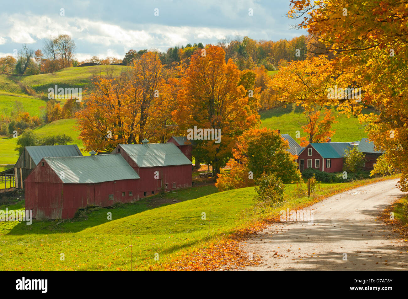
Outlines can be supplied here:
<path id="1" fill-rule="evenodd" d="M 106 71 L 120 72 L 127 67 L 120 65 L 68 67 L 55 73 L 26 76 L 21 80 L 37 93 L 48 93 L 48 89 L 54 88 L 55 85 L 62 88 L 81 87 L 84 93 L 85 88 L 91 87 L 93 73 L 106 75 Z"/>

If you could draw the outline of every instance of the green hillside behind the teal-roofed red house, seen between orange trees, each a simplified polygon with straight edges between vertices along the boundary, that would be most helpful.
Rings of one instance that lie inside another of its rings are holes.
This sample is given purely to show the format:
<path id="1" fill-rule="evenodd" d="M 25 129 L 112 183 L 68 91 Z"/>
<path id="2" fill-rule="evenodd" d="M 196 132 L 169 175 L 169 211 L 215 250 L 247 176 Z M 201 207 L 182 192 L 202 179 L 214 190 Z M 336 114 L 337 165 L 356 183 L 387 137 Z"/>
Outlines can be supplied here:
<path id="1" fill-rule="evenodd" d="M 374 111 L 363 109 L 363 112 L 370 113 Z M 295 104 L 288 105 L 285 108 L 264 111 L 260 115 L 263 127 L 280 130 L 281 134 L 289 134 L 293 138 L 295 138 L 296 131 L 300 131 L 301 137 L 306 136 L 301 128 L 302 125 L 306 124 L 305 116 L 301 108 Z M 335 116 L 338 122 L 332 126 L 336 130 L 335 135 L 332 137 L 333 142 L 351 142 L 367 137 L 364 128 L 359 125 L 356 117 L 347 118 L 346 115 L 339 115 L 337 111 L 335 111 Z"/>

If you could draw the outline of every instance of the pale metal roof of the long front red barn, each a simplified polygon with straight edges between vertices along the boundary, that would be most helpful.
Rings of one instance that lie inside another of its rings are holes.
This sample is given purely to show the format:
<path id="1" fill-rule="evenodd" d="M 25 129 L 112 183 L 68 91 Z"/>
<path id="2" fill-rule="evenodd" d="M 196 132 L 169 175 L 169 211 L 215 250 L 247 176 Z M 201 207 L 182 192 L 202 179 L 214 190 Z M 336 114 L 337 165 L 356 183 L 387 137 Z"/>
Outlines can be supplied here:
<path id="1" fill-rule="evenodd" d="M 140 179 L 139 175 L 120 154 L 44 159 L 66 184 L 92 184 L 120 179 Z M 63 176 L 61 175 L 62 171 L 64 172 Z"/>

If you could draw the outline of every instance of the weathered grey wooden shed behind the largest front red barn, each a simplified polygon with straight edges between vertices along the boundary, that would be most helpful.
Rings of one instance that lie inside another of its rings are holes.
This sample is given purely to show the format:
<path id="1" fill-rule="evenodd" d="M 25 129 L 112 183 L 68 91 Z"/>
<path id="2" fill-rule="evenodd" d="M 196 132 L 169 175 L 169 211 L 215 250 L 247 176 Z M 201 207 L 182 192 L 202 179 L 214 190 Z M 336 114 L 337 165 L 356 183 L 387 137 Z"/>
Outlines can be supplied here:
<path id="1" fill-rule="evenodd" d="M 79 157 L 82 156 L 76 144 L 26 146 L 14 165 L 16 188 L 24 188 L 24 180 L 43 157 Z"/>

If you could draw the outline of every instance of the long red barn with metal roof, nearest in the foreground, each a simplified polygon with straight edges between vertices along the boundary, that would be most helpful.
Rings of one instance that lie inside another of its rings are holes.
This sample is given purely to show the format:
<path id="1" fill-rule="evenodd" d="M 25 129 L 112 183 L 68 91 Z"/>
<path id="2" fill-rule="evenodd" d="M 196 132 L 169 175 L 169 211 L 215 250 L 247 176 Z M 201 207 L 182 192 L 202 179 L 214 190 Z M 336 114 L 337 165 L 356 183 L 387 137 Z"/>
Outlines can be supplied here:
<path id="1" fill-rule="evenodd" d="M 139 199 L 139 175 L 121 155 L 42 158 L 25 179 L 26 210 L 42 219 L 70 219 L 80 208 Z"/>

